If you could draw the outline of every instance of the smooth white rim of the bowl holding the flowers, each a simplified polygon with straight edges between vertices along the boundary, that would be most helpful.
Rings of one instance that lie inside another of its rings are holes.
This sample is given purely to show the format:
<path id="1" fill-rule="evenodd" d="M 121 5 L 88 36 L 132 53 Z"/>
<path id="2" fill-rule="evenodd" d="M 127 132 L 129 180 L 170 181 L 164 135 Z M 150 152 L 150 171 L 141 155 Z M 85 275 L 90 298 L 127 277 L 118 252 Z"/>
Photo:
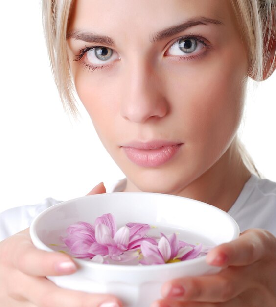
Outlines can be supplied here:
<path id="1" fill-rule="evenodd" d="M 82 199 L 88 199 L 88 198 L 94 198 L 96 197 L 105 197 L 106 195 L 111 195 L 111 194 L 116 194 L 116 195 L 139 195 L 139 197 L 141 195 L 145 195 L 145 197 L 149 194 L 155 196 L 158 195 L 159 197 L 165 196 L 165 197 L 177 197 L 177 198 L 181 198 L 181 199 L 188 199 L 189 201 L 192 201 L 194 203 L 197 204 L 201 204 L 201 205 L 207 205 L 209 207 L 211 207 L 213 210 L 217 210 L 219 211 L 221 214 L 225 215 L 231 222 L 232 228 L 233 228 L 233 235 L 232 235 L 232 239 L 226 242 L 230 242 L 234 239 L 237 239 L 239 237 L 240 234 L 240 229 L 239 226 L 237 224 L 237 222 L 234 220 L 234 218 L 232 216 L 230 216 L 230 214 L 228 214 L 226 211 L 215 207 L 213 205 L 201 202 L 201 201 L 197 201 L 191 198 L 187 198 L 187 197 L 182 197 L 182 196 L 178 196 L 178 195 L 171 195 L 171 194 L 163 194 L 163 193 L 153 193 L 153 192 L 110 192 L 110 193 L 103 193 L 103 194 L 92 194 L 92 195 L 86 195 L 86 196 L 81 196 L 81 197 L 77 197 L 74 199 L 70 199 L 67 201 L 63 201 L 60 202 L 58 204 L 52 205 L 49 208 L 43 210 L 41 213 L 39 213 L 34 220 L 32 221 L 31 225 L 30 225 L 30 229 L 29 229 L 29 233 L 30 233 L 30 237 L 31 240 L 34 244 L 35 247 L 37 247 L 40 250 L 44 250 L 47 252 L 56 252 L 53 249 L 51 249 L 50 247 L 48 247 L 46 244 L 44 244 L 38 237 L 37 231 L 36 231 L 36 226 L 39 223 L 40 219 L 47 214 L 49 211 L 55 210 L 58 207 L 62 207 L 64 205 L 66 205 L 67 203 L 71 203 L 73 201 L 79 201 Z M 124 197 L 124 196 L 123 196 Z M 143 196 L 142 196 L 143 197 Z M 216 246 L 214 246 L 216 247 Z M 69 254 L 68 254 L 69 255 Z M 207 256 L 201 256 L 199 258 L 195 258 L 195 259 L 188 259 L 188 260 L 184 260 L 184 261 L 180 261 L 180 262 L 174 262 L 174 263 L 166 263 L 166 265 L 160 265 L 160 264 L 151 264 L 151 265 L 127 265 L 127 264 L 106 264 L 103 265 L 103 263 L 96 263 L 96 262 L 92 262 L 89 260 L 84 260 L 84 259 L 79 259 L 79 258 L 75 258 L 71 255 L 69 255 L 70 257 L 72 257 L 72 259 L 82 268 L 84 267 L 88 267 L 88 268 L 94 268 L 94 269 L 101 269 L 101 270 L 111 270 L 111 271 L 139 271 L 139 272 L 143 272 L 143 271 L 151 271 L 151 270 L 157 270 L 157 269 L 169 269 L 172 266 L 174 268 L 177 267 L 185 267 L 188 266 L 190 264 L 196 264 L 196 263 L 201 263 L 201 262 L 205 262 L 205 259 Z"/>

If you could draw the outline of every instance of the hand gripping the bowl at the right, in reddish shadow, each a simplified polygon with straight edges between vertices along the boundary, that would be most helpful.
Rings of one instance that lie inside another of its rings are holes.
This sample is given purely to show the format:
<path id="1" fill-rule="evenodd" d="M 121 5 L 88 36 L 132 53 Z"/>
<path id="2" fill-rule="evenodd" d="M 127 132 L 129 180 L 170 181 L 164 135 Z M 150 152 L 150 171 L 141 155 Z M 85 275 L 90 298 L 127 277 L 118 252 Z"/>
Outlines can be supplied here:
<path id="1" fill-rule="evenodd" d="M 276 237 L 270 232 L 246 230 L 211 250 L 206 261 L 223 269 L 168 281 L 162 287 L 164 299 L 151 307 L 276 306 Z"/>

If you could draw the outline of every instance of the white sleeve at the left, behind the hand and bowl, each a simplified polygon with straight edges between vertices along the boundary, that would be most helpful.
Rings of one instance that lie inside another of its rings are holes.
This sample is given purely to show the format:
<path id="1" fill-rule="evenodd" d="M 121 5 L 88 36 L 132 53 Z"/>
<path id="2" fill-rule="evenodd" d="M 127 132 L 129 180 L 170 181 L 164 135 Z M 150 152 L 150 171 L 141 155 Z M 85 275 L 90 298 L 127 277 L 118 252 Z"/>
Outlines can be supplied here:
<path id="1" fill-rule="evenodd" d="M 0 213 L 0 241 L 28 228 L 33 219 L 48 207 L 58 204 L 53 198 L 46 198 L 37 205 L 24 205 Z"/>

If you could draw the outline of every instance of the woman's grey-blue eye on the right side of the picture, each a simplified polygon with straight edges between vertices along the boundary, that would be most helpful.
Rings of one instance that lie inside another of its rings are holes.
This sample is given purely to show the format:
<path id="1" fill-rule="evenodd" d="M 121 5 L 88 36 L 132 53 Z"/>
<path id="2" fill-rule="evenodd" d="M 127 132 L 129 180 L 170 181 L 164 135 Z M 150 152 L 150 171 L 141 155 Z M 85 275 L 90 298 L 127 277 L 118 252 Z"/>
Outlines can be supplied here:
<path id="1" fill-rule="evenodd" d="M 198 53 L 207 44 L 197 38 L 184 37 L 176 41 L 166 52 L 166 55 L 184 55 Z"/>

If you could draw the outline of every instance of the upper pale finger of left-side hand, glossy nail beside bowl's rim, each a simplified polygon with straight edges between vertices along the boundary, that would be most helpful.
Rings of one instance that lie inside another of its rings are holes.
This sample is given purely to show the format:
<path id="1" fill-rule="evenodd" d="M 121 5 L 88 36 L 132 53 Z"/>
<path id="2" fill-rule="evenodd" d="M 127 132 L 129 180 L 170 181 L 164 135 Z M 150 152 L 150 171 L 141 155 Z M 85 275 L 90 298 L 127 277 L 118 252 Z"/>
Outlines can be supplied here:
<path id="1" fill-rule="evenodd" d="M 65 275 L 77 270 L 71 257 L 64 253 L 37 249 L 31 242 L 29 231 L 14 235 L 2 246 L 5 262 L 31 276 Z"/>

